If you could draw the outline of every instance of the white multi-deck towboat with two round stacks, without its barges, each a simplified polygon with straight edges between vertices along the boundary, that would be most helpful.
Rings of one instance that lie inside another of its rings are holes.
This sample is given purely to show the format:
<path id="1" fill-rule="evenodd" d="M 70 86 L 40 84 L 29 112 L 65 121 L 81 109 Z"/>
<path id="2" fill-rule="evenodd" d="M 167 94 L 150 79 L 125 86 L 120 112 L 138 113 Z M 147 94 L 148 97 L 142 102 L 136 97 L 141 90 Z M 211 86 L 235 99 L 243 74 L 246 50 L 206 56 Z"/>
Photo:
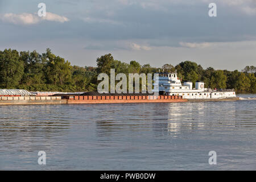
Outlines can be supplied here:
<path id="1" fill-rule="evenodd" d="M 197 81 L 195 88 L 193 83 L 185 81 L 181 84 L 177 73 L 158 73 L 159 74 L 159 92 L 167 96 L 183 96 L 188 100 L 196 99 L 214 99 L 214 98 L 231 98 L 236 97 L 234 89 L 209 89 L 204 88 L 204 82 Z M 157 82 L 154 83 L 157 85 Z"/>

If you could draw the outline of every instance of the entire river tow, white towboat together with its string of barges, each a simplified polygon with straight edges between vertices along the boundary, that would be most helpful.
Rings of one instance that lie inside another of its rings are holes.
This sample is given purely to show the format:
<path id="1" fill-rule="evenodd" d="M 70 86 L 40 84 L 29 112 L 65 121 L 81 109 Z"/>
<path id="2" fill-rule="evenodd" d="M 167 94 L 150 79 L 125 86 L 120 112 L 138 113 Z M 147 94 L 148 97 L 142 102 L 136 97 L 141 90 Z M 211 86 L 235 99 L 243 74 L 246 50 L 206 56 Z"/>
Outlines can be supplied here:
<path id="1" fill-rule="evenodd" d="M 34 105 L 34 104 L 112 104 L 112 103 L 156 103 L 156 102 L 187 102 L 187 101 L 234 101 L 234 89 L 204 88 L 204 82 L 185 81 L 181 84 L 177 73 L 158 73 L 155 81 L 155 92 L 159 96 L 147 93 L 61 93 L 61 92 L 28 92 L 20 89 L 0 89 L 0 105 Z M 157 85 L 156 85 L 157 84 Z"/>

